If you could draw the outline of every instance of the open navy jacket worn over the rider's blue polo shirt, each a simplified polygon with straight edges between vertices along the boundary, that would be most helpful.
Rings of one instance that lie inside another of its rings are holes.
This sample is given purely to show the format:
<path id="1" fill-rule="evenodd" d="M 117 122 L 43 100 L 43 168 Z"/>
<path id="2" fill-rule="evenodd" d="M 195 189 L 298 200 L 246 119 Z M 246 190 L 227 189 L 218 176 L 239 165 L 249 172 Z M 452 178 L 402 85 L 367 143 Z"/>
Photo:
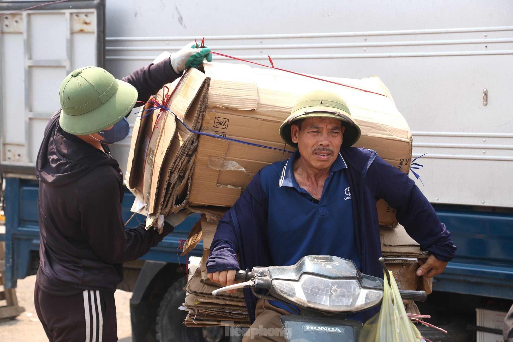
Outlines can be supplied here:
<path id="1" fill-rule="evenodd" d="M 363 273 L 383 277 L 383 269 L 378 262 L 381 240 L 376 202 L 380 198 L 397 210 L 399 223 L 423 251 L 431 252 L 442 261 L 449 261 L 455 256 L 456 246 L 451 241 L 450 232 L 407 174 L 366 149 L 342 147 L 340 152 L 348 166 L 347 177 L 356 204 L 353 205 L 353 218 L 359 232 L 357 243 Z M 219 222 L 207 260 L 208 273 L 273 265 L 267 243 L 267 210 L 260 173 L 257 173 Z M 322 243 L 322 237 L 318 243 Z M 237 253 L 240 254 L 240 266 Z M 249 289 L 244 289 L 244 297 L 249 317 L 254 321 L 257 298 Z M 377 310 L 367 310 L 364 319 L 370 318 Z"/>

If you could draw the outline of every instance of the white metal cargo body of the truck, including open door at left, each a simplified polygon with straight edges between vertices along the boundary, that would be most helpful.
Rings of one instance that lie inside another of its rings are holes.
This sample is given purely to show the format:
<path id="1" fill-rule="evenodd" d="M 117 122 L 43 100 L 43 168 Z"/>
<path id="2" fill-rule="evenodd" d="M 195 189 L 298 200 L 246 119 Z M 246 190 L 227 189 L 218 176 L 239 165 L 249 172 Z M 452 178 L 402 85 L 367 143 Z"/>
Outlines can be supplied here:
<path id="1" fill-rule="evenodd" d="M 378 75 L 410 125 L 413 156 L 427 153 L 418 159 L 424 185 L 417 183 L 430 202 L 511 207 L 511 13 L 513 2 L 500 0 L 109 0 L 105 68 L 121 78 L 205 36 L 212 51 L 262 64 L 270 55 L 283 69 Z M 17 35 L 2 25 L 2 165 L 34 166 L 48 117 L 59 107 L 60 82 L 74 68 L 96 65 L 96 41 L 73 31 L 72 14 L 64 21 L 45 15 L 51 24 L 27 24 Z M 130 136 L 112 147 L 123 169 L 129 145 Z"/>

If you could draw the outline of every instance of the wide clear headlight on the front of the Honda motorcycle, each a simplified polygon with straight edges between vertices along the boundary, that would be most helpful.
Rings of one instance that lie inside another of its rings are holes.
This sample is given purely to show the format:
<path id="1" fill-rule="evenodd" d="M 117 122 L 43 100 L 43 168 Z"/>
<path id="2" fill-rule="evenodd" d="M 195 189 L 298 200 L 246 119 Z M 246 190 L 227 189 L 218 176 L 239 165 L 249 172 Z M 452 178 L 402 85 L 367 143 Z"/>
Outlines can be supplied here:
<path id="1" fill-rule="evenodd" d="M 383 291 L 363 289 L 356 279 L 304 274 L 299 281 L 273 279 L 274 289 L 294 304 L 328 312 L 354 312 L 381 301 Z"/>

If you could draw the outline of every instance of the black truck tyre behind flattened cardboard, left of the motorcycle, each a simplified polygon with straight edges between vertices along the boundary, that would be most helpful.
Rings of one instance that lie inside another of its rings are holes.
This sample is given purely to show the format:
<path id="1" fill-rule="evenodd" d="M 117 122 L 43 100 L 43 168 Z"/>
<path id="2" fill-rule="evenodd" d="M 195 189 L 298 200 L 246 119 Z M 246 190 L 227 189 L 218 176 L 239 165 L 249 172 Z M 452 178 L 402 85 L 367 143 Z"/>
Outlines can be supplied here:
<path id="1" fill-rule="evenodd" d="M 175 281 L 162 298 L 156 318 L 158 342 L 220 342 L 227 340 L 223 327 L 192 328 L 184 325 L 187 311 L 178 309 L 185 301 L 186 277 Z"/>

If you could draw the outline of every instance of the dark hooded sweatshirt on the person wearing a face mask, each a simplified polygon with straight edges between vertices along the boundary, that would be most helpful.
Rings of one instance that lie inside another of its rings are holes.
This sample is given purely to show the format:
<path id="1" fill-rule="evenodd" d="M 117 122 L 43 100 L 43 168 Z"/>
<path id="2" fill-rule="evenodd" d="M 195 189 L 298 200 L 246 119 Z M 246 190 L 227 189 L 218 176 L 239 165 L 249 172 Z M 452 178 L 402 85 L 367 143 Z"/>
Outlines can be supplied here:
<path id="1" fill-rule="evenodd" d="M 147 102 L 179 76 L 166 59 L 123 81 L 135 87 L 137 100 Z M 107 153 L 63 131 L 60 116 L 61 109 L 46 126 L 36 162 L 41 237 L 37 284 L 57 296 L 114 292 L 123 280 L 122 264 L 146 254 L 173 227 L 165 224 L 163 234 L 146 230 L 145 224 L 125 230 L 125 187 L 117 160 L 106 145 Z"/>

